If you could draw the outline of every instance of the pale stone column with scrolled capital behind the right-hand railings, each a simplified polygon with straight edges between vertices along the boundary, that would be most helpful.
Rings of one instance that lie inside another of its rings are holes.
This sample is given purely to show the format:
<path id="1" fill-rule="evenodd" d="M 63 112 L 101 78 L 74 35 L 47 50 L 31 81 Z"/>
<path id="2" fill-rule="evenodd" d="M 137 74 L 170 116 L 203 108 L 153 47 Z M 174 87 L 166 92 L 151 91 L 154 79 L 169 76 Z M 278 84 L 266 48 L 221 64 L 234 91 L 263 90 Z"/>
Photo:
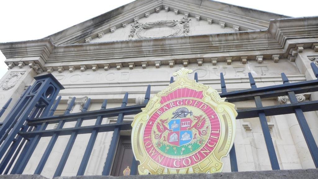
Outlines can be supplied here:
<path id="1" fill-rule="evenodd" d="M 296 95 L 298 102 L 303 102 L 306 100 L 304 94 L 297 94 Z M 282 96 L 277 98 L 280 104 L 290 104 L 288 96 Z M 307 168 L 315 168 L 315 164 L 313 159 L 310 155 L 309 149 L 307 147 L 307 143 L 305 138 L 301 132 L 301 128 L 297 121 L 295 114 L 285 114 L 285 118 L 287 119 L 287 124 L 294 140 L 294 144 L 297 150 L 297 154 L 299 160 L 301 161 L 301 166 L 303 169 Z"/>

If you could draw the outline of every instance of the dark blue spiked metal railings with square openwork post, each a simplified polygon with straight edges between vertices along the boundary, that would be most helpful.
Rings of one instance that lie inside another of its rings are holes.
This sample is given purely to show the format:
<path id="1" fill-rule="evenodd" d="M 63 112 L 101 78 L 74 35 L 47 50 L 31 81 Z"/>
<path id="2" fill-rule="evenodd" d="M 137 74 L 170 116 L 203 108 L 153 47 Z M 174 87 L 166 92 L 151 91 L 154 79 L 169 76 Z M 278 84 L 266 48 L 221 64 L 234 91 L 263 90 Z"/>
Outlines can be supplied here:
<path id="1" fill-rule="evenodd" d="M 311 63 L 311 67 L 315 76 L 318 77 L 318 68 L 316 65 Z M 221 97 L 226 97 L 228 102 L 248 100 L 255 101 L 255 108 L 237 110 L 237 119 L 259 118 L 273 170 L 279 170 L 280 167 L 270 130 L 268 128 L 266 116 L 290 113 L 295 114 L 307 142 L 315 167 L 318 168 L 318 148 L 303 114 L 303 112 L 318 110 L 318 100 L 299 103 L 296 98 L 296 94 L 318 91 L 318 80 L 289 83 L 287 76 L 282 73 L 281 77 L 283 84 L 268 87 L 257 87 L 251 73 L 249 73 L 248 76 L 251 89 L 227 92 L 224 76 L 222 73 L 220 76 L 222 89 L 222 93 L 220 93 Z M 3 123 L 0 124 L 0 156 L 2 156 L 0 162 L 0 173 L 22 174 L 41 137 L 50 136 L 51 140 L 46 147 L 44 154 L 41 156 L 41 160 L 34 172 L 34 174 L 41 174 L 58 136 L 70 135 L 64 153 L 54 173 L 54 177 L 60 176 L 76 137 L 78 134 L 88 133 L 91 135 L 77 172 L 77 175 L 84 175 L 97 134 L 99 132 L 113 131 L 111 144 L 102 172 L 102 175 L 109 175 L 114 161 L 115 148 L 119 140 L 120 131 L 131 129 L 131 122 L 123 122 L 123 118 L 125 115 L 137 114 L 142 111 L 141 108 L 144 108 L 149 101 L 150 85 L 148 85 L 143 104 L 127 106 L 128 93 L 126 93 L 120 107 L 106 109 L 107 100 L 105 99 L 100 110 L 87 111 L 90 104 L 90 99 L 88 99 L 82 112 L 70 114 L 75 102 L 75 97 L 73 97 L 63 115 L 53 116 L 53 113 L 61 99 L 61 97 L 56 97 L 59 90 L 64 88 L 51 74 L 37 76 L 35 77 L 35 80 L 35 83 L 24 91 L 10 113 L 4 119 Z M 197 73 L 195 73 L 195 80 L 198 82 Z M 173 77 L 170 79 L 170 83 L 171 82 L 173 82 Z M 288 95 L 290 104 L 265 107 L 262 105 L 262 98 L 280 97 L 285 95 Z M 0 117 L 10 104 L 10 101 L 11 99 L 1 109 Z M 102 125 L 102 119 L 109 117 L 117 117 L 117 122 L 114 124 Z M 82 122 L 88 119 L 96 119 L 95 125 L 81 126 Z M 76 121 L 74 127 L 63 128 L 63 125 L 66 122 L 71 121 Z M 57 124 L 57 127 L 56 129 L 46 130 L 48 124 Z M 238 171 L 234 145 L 229 155 L 231 170 Z M 134 158 L 131 174 L 134 175 L 136 173 L 136 169 L 137 162 Z"/>

